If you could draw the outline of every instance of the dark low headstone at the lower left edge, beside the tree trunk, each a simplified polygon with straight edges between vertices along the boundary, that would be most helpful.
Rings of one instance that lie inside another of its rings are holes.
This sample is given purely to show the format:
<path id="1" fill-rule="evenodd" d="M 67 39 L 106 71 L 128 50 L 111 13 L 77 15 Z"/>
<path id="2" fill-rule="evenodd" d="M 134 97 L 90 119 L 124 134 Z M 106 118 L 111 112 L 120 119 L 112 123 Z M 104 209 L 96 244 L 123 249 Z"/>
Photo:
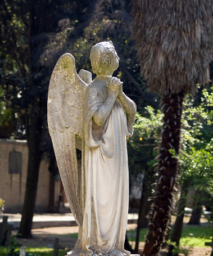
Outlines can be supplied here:
<path id="1" fill-rule="evenodd" d="M 12 224 L 7 223 L 8 216 L 3 216 L 3 221 L 0 223 L 0 245 L 10 245 Z"/>

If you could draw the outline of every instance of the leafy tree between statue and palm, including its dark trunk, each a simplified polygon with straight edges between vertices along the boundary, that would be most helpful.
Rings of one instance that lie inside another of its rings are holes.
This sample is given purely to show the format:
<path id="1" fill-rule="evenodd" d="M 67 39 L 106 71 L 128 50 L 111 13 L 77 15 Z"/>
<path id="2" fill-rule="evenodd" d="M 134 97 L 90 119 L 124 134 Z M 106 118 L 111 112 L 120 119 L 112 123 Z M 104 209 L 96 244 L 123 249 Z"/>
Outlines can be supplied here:
<path id="1" fill-rule="evenodd" d="M 153 107 L 144 107 L 143 115 L 136 115 L 133 137 L 128 139 L 129 172 L 130 179 L 141 178 L 143 174 L 142 196 L 139 206 L 137 236 L 135 251 L 139 249 L 139 236 L 141 228 L 146 226 L 146 215 L 150 204 L 148 197 L 151 194 L 151 183 L 155 183 L 155 167 L 153 160 L 157 154 L 156 146 L 162 127 L 162 113 L 154 111 Z M 131 181 L 130 181 L 131 183 Z"/>

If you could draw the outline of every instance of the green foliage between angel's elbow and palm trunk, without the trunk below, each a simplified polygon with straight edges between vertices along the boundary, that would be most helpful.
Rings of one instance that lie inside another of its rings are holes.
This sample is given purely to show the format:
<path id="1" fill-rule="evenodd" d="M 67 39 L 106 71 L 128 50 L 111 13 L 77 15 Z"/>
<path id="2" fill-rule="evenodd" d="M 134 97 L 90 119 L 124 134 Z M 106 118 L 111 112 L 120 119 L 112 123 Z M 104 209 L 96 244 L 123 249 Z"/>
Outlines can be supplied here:
<path id="1" fill-rule="evenodd" d="M 139 173 L 150 176 L 153 160 L 157 154 L 156 146 L 162 127 L 162 114 L 151 106 L 144 107 L 143 115 L 137 113 L 133 136 L 128 138 L 129 172 L 136 179 Z M 153 173 L 152 173 L 153 176 Z M 149 177 L 152 178 L 152 177 Z"/>

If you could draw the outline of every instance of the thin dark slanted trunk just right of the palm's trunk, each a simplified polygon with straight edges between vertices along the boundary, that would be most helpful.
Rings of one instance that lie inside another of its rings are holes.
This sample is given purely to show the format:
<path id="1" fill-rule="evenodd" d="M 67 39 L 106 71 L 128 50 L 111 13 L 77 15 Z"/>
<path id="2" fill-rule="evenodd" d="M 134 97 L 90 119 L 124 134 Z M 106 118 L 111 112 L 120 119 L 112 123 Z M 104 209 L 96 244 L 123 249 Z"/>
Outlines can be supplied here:
<path id="1" fill-rule="evenodd" d="M 180 200 L 178 204 L 178 214 L 174 224 L 173 233 L 171 234 L 171 242 L 175 242 L 176 246 L 179 246 L 179 241 L 182 233 L 184 209 L 185 209 L 185 205 L 187 204 L 187 194 L 188 194 L 190 182 L 191 182 L 190 180 L 184 181 L 181 188 Z M 173 255 L 172 254 L 173 249 L 174 249 L 174 246 L 170 245 L 167 256 Z"/>

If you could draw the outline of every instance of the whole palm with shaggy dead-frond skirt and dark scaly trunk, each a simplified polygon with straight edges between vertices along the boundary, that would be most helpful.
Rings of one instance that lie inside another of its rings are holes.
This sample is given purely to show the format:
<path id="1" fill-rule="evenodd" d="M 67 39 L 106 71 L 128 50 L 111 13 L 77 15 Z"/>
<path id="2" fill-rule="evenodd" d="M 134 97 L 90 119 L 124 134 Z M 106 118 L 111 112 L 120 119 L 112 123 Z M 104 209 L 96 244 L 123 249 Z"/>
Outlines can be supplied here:
<path id="1" fill-rule="evenodd" d="M 178 172 L 182 103 L 197 84 L 209 82 L 212 51 L 211 0 L 133 0 L 133 37 L 147 86 L 162 96 L 164 128 L 158 181 L 143 255 L 158 255 L 169 223 Z M 173 152 L 171 152 L 171 150 Z"/>

